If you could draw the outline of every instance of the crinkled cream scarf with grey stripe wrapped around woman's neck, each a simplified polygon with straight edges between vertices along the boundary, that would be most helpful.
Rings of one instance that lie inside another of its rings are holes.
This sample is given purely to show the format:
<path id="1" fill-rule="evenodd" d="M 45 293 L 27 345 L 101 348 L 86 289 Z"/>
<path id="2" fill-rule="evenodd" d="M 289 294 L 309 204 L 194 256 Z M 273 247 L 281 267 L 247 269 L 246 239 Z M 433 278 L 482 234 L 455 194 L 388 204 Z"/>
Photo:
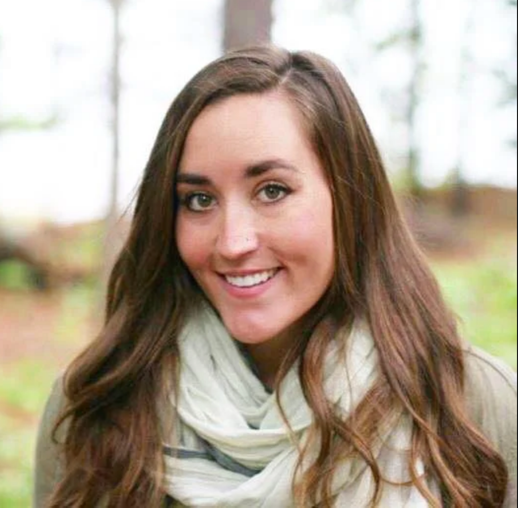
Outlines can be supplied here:
<path id="1" fill-rule="evenodd" d="M 164 446 L 167 492 L 186 506 L 293 507 L 298 452 L 275 394 L 254 375 L 213 311 L 200 314 L 186 324 L 179 338 L 180 388 L 177 401 L 171 397 L 171 402 L 180 422 Z M 346 340 L 345 360 L 338 354 L 337 340 Z M 338 333 L 326 355 L 325 391 L 344 417 L 362 400 L 376 375 L 376 349 L 365 327 L 356 326 L 348 337 Z M 312 413 L 297 366 L 281 384 L 280 401 L 294 436 L 304 443 Z M 375 453 L 384 478 L 399 483 L 410 479 L 410 436 L 411 424 L 401 412 L 380 422 Z M 421 463 L 416 467 L 423 472 Z M 344 461 L 334 477 L 335 505 L 368 506 L 374 485 L 363 461 Z M 383 483 L 378 506 L 427 505 L 415 487 Z"/>

